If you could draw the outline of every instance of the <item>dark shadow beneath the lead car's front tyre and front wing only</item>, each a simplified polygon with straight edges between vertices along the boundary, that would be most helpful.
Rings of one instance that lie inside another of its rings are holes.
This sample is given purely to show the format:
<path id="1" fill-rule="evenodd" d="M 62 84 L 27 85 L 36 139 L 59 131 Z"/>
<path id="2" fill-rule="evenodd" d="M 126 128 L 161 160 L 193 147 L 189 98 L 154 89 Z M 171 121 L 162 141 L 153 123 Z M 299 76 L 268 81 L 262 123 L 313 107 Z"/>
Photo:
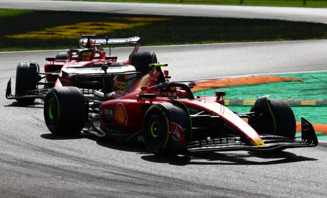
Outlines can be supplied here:
<path id="1" fill-rule="evenodd" d="M 278 159 L 270 161 L 250 161 L 246 158 L 256 157 L 261 159 Z M 176 156 L 170 158 L 159 157 L 155 155 L 142 156 L 142 159 L 156 163 L 169 163 L 172 165 L 189 165 L 189 164 L 203 164 L 203 165 L 271 165 L 292 163 L 301 161 L 315 161 L 317 159 L 297 156 L 290 152 L 276 152 L 276 153 L 253 153 L 247 154 L 222 154 L 222 153 L 197 153 L 188 156 Z M 194 160 L 207 160 L 207 162 L 197 162 Z"/>

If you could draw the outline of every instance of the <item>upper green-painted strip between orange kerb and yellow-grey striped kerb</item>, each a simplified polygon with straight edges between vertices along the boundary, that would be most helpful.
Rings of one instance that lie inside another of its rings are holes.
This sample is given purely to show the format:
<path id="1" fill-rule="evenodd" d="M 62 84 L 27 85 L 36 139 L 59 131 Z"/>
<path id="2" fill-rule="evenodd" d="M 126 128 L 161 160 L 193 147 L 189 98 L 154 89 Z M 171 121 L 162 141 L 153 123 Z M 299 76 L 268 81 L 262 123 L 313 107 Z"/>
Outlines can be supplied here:
<path id="1" fill-rule="evenodd" d="M 227 93 L 226 98 L 244 99 L 270 95 L 270 98 L 277 99 L 327 99 L 327 71 L 287 73 L 284 75 L 269 76 L 296 78 L 304 81 L 221 87 L 217 89 L 198 91 L 195 95 L 215 95 L 217 90 L 225 90 Z"/>

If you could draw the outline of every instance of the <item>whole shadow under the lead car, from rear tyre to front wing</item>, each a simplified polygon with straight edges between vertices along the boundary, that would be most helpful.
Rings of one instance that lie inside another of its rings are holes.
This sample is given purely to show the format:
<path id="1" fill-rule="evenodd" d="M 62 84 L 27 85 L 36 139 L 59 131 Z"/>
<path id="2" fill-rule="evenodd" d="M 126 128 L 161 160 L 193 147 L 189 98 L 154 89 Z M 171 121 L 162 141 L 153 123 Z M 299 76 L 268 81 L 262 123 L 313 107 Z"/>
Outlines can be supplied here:
<path id="1" fill-rule="evenodd" d="M 160 157 L 151 154 L 145 144 L 119 142 L 110 140 L 105 137 L 88 137 L 82 134 L 71 136 L 58 136 L 53 134 L 42 134 L 42 138 L 50 140 L 65 140 L 65 139 L 81 139 L 88 138 L 91 141 L 96 141 L 98 145 L 107 149 L 113 149 L 125 152 L 134 152 L 135 154 L 143 155 L 143 160 L 155 163 L 169 163 L 171 165 L 184 166 L 189 164 L 202 164 L 202 165 L 271 165 L 293 163 L 301 161 L 316 161 L 318 159 L 298 156 L 291 152 L 247 152 L 247 153 L 191 153 L 185 156 L 174 157 Z M 247 159 L 248 158 L 248 159 Z M 253 161 L 249 158 L 260 158 L 265 161 Z M 276 159 L 276 160 L 275 160 Z M 202 160 L 201 162 L 196 160 Z M 203 161 L 206 160 L 206 161 Z M 269 161 L 268 161 L 269 160 Z"/>

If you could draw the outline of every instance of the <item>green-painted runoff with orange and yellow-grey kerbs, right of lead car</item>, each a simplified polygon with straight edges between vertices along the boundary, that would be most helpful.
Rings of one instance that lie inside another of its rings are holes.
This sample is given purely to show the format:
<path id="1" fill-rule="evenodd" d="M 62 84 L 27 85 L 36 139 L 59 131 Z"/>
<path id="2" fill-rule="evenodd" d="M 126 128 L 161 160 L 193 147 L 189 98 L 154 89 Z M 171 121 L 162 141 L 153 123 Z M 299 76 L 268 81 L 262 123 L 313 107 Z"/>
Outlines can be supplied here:
<path id="1" fill-rule="evenodd" d="M 318 139 L 327 141 L 327 71 L 201 80 L 196 83 L 194 95 L 215 95 L 217 90 L 225 90 L 225 106 L 240 113 L 249 112 L 260 96 L 282 99 L 295 114 L 297 137 L 300 137 L 302 116 L 313 123 Z"/>

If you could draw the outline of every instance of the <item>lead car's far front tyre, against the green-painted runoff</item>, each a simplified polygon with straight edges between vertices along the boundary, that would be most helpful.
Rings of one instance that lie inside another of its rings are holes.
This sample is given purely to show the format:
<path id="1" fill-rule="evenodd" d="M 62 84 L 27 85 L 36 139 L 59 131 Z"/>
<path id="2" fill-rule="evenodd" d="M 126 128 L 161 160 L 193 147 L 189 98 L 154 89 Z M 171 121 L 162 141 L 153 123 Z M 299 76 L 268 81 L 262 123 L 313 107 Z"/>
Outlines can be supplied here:
<path id="1" fill-rule="evenodd" d="M 291 107 L 282 100 L 269 99 L 267 96 L 259 97 L 252 106 L 248 123 L 254 125 L 259 134 L 272 134 L 295 138 L 296 120 Z"/>

